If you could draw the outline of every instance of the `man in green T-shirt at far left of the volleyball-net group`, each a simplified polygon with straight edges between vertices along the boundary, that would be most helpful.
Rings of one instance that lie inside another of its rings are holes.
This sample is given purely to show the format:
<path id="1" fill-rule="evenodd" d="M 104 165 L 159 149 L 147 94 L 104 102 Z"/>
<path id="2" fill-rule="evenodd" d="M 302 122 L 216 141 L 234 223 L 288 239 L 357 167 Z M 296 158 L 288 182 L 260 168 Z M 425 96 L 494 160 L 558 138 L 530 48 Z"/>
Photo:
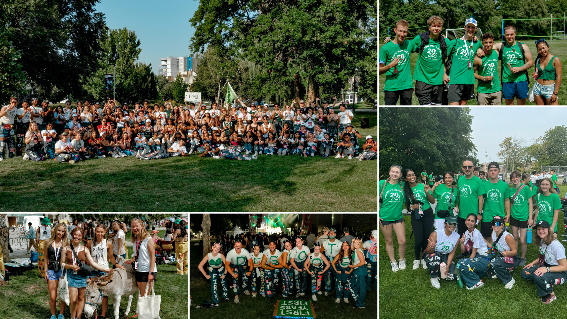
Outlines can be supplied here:
<path id="1" fill-rule="evenodd" d="M 396 22 L 393 31 L 396 37 L 380 48 L 379 74 L 386 73 L 384 102 L 386 105 L 412 105 L 413 81 L 409 57 L 417 51 L 417 45 L 405 40 L 409 24 L 406 20 Z"/>

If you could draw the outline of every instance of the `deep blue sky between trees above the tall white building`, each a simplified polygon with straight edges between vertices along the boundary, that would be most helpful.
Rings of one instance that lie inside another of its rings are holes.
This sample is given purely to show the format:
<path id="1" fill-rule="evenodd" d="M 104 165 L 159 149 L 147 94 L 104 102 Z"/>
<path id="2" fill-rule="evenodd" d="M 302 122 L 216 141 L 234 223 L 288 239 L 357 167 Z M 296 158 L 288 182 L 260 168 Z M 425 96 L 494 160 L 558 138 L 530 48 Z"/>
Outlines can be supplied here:
<path id="1" fill-rule="evenodd" d="M 109 28 L 136 32 L 142 49 L 138 61 L 151 63 L 157 74 L 159 58 L 190 56 L 195 29 L 188 20 L 198 6 L 195 0 L 101 0 L 95 9 L 104 13 Z"/>

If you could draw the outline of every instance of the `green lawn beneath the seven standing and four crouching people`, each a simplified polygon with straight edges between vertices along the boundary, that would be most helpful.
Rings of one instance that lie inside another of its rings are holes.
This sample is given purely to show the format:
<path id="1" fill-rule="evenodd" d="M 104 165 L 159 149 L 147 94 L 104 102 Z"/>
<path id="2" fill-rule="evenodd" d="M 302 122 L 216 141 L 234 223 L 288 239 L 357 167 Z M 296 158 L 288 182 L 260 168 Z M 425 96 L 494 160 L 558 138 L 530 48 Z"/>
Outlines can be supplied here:
<path id="1" fill-rule="evenodd" d="M 564 194 L 567 186 L 560 186 Z M 557 218 L 558 240 L 562 240 L 564 230 L 562 211 Z M 549 305 L 539 301 L 535 285 L 523 279 L 522 267 L 513 272 L 515 284 L 512 289 L 505 289 L 500 279 L 487 279 L 484 276 L 484 286 L 472 291 L 459 288 L 456 280 L 448 282 L 441 280 L 441 289 L 435 289 L 429 281 L 428 270 L 421 266 L 412 270 L 414 255 L 413 245 L 415 238 L 409 238 L 412 233 L 411 219 L 404 216 L 406 229 L 406 268 L 392 272 L 390 259 L 384 247 L 384 237 L 380 232 L 379 245 L 379 303 L 380 318 L 462 318 L 463 311 L 447 311 L 448 309 L 465 309 L 464 313 L 472 318 L 488 318 L 488 314 L 498 313 L 500 318 L 560 318 L 565 313 L 565 300 L 567 300 L 567 286 L 553 287 L 557 300 Z M 480 226 L 479 226 L 480 229 Z M 561 242 L 567 246 L 565 242 Z M 399 259 L 397 238 L 394 235 L 393 246 L 396 259 Z M 521 250 L 518 249 L 518 253 Z M 460 254 L 460 248 L 455 255 Z M 538 247 L 528 244 L 526 264 L 539 256 Z M 403 297 L 400 296 L 411 296 Z M 558 302 L 557 302 L 558 301 Z"/>

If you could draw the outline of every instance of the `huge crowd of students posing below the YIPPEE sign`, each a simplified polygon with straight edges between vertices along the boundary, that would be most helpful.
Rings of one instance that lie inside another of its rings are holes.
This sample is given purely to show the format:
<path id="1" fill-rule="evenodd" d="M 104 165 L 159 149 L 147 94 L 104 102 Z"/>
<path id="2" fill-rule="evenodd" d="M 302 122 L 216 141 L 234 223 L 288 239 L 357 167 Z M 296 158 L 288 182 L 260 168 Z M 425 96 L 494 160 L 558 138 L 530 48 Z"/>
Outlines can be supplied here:
<path id="1" fill-rule="evenodd" d="M 71 108 L 49 108 L 48 100 L 39 105 L 37 98 L 19 107 L 12 96 L 10 104 L 0 110 L 0 161 L 22 157 L 33 161 L 54 159 L 74 163 L 88 158 L 136 156 L 158 159 L 171 156 L 227 158 L 251 160 L 260 154 L 303 157 L 376 159 L 378 143 L 372 136 L 362 137 L 354 129 L 353 113 L 339 103 L 335 112 L 319 98 L 305 103 L 295 101 L 280 110 L 274 104 L 247 106 L 238 100 L 218 106 L 213 102 L 207 110 L 202 101 L 185 107 L 135 103 L 122 107 L 114 100 L 101 106 L 99 102 L 77 102 Z M 15 146 L 15 147 L 14 147 Z"/>

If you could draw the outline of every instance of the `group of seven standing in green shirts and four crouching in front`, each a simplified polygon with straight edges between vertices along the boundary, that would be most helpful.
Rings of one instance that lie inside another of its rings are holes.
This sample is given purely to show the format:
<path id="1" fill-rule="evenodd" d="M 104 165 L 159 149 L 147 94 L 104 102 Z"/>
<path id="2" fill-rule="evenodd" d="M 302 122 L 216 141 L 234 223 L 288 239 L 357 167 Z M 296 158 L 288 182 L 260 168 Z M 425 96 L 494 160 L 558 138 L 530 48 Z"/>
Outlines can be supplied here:
<path id="1" fill-rule="evenodd" d="M 428 269 L 433 287 L 441 288 L 440 279 L 456 279 L 459 286 L 476 289 L 484 286 L 483 278 L 498 278 L 504 288 L 512 289 L 511 272 L 522 267 L 522 278 L 535 284 L 540 301 L 551 303 L 557 299 L 553 287 L 567 279 L 565 247 L 557 240 L 562 202 L 555 180 L 515 170 L 510 187 L 498 179 L 497 162 L 488 164 L 488 179 L 473 173 L 474 167 L 466 160 L 458 181 L 448 171 L 433 187 L 428 179 L 418 182 L 413 169 L 390 167 L 389 177 L 379 182 L 379 224 L 392 271 L 405 270 L 405 204 L 415 238 L 413 270 L 420 265 Z M 526 252 L 532 241 L 539 256 L 530 262 Z M 457 250 L 461 254 L 455 256 Z"/>

